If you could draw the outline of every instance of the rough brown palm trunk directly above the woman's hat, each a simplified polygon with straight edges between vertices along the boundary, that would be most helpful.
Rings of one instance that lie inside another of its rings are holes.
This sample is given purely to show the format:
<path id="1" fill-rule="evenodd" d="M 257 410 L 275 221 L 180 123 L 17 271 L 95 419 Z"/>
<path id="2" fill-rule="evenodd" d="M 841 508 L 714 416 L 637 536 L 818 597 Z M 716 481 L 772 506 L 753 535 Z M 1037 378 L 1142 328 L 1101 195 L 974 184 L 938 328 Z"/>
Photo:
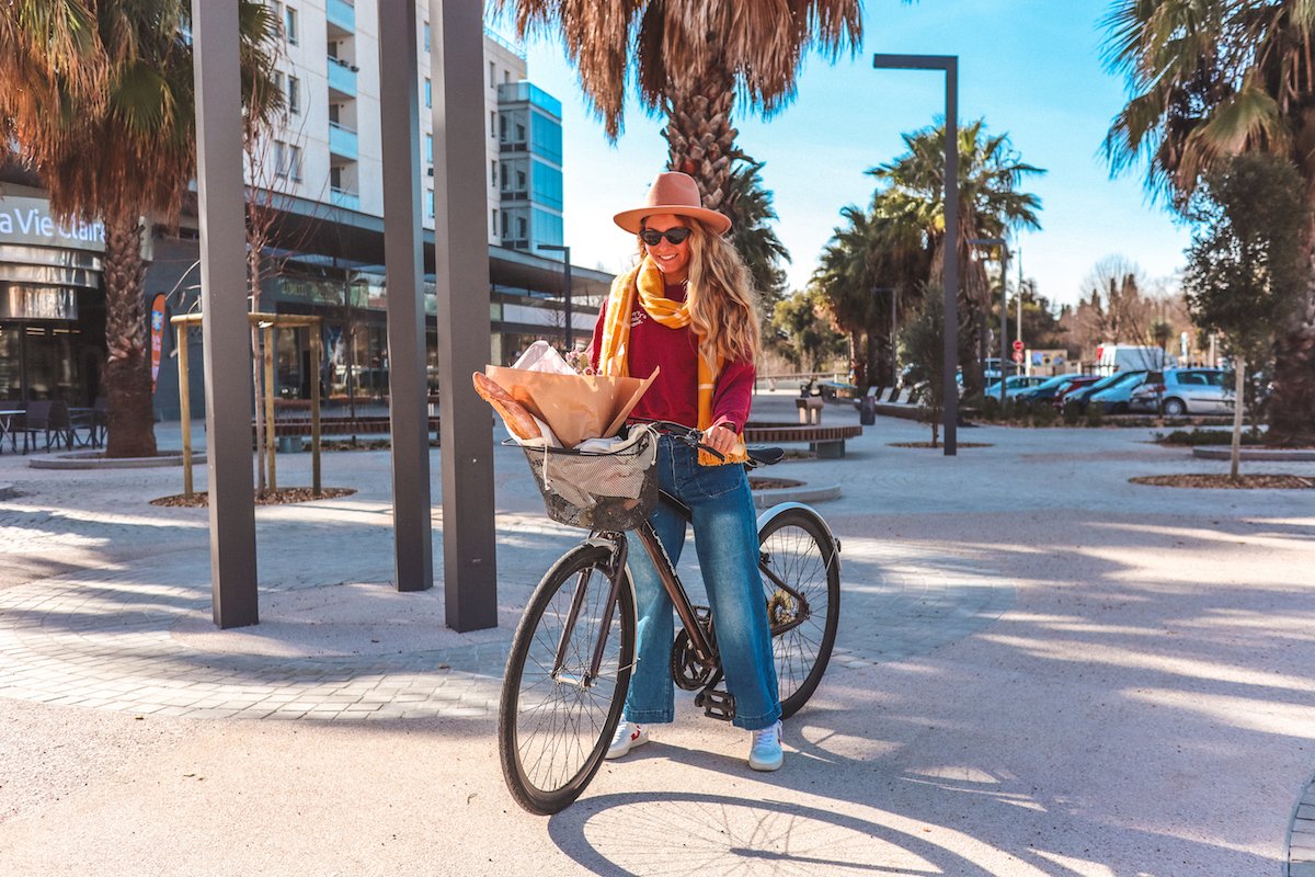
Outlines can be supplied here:
<path id="1" fill-rule="evenodd" d="M 704 206 L 723 210 L 730 191 L 731 156 L 738 130 L 731 128 L 735 83 L 731 75 L 710 64 L 688 91 L 673 89 L 667 99 L 667 167 L 698 181 Z"/>

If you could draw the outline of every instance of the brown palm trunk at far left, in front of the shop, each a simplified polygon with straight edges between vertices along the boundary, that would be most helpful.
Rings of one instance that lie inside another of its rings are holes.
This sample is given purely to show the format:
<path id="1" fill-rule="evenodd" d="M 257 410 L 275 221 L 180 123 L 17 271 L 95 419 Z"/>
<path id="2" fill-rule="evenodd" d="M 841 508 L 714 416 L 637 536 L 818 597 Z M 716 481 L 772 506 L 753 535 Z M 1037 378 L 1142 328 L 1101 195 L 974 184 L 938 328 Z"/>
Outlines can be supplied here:
<path id="1" fill-rule="evenodd" d="M 155 456 L 155 409 L 146 355 L 142 298 L 142 224 L 135 216 L 105 217 L 105 456 Z M 187 417 L 187 413 L 183 413 Z"/>

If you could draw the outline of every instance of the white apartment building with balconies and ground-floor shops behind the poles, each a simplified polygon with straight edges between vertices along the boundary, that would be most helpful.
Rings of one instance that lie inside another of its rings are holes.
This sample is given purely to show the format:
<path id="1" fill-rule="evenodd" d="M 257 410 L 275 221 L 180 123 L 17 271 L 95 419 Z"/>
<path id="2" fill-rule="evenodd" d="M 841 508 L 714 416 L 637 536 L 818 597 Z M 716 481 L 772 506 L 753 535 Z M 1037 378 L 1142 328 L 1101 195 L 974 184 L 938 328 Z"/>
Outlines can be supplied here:
<path id="1" fill-rule="evenodd" d="M 330 397 L 387 394 L 387 291 L 383 270 L 383 143 L 379 125 L 379 66 L 385 47 L 377 34 L 380 0 L 268 0 L 283 33 L 276 87 L 285 117 L 246 162 L 247 183 L 275 217 L 260 284 L 260 308 L 323 317 L 322 364 Z M 422 222 L 426 266 L 433 270 L 435 99 L 430 74 L 427 4 L 417 4 L 421 109 Z M 563 317 L 562 107 L 529 80 L 525 53 L 485 32 L 484 131 L 488 156 L 488 243 L 492 337 L 489 359 L 506 363 L 538 338 L 559 341 Z M 0 180 L 0 208 L 42 206 L 39 181 Z M 16 199 L 22 199 L 16 200 Z M 28 213 L 22 213 L 28 216 Z M 12 224 L 11 224 L 12 225 Z M 91 404 L 95 372 L 104 358 L 100 305 L 100 243 L 95 229 L 78 238 L 53 234 L 34 241 L 0 224 L 0 280 L 7 256 L 28 263 L 71 264 L 50 297 L 13 291 L 0 296 L 0 401 L 67 398 Z M 34 245 L 49 243 L 49 252 Z M 151 241 L 146 306 L 156 327 L 196 306 L 197 239 L 195 217 L 178 230 L 158 229 Z M 32 273 L 32 268 L 18 272 Z M 43 270 L 42 276 L 50 276 Z M 66 276 L 67 275 L 67 276 Z M 573 267 L 573 327 L 588 338 L 597 313 L 588 306 L 606 292 L 610 275 Z M 76 285 L 80 284 L 80 285 Z M 484 295 L 485 291 L 476 291 Z M 26 297 L 25 297 L 26 296 Z M 430 289 L 427 298 L 431 298 Z M 49 301 L 47 301 L 49 298 Z M 17 302 L 17 304 L 11 304 Z M 34 304 L 24 305 L 32 301 Z M 79 308 L 80 305 L 80 308 Z M 437 326 L 433 301 L 429 347 L 437 385 Z M 163 331 L 156 376 L 156 408 L 178 414 L 174 339 Z M 199 339 L 196 339 L 199 343 Z M 191 351 L 199 355 L 197 351 Z M 195 358 L 193 358 L 195 359 Z M 284 333 L 277 344 L 279 392 L 304 396 L 309 387 L 309 338 Z M 193 414 L 204 400 L 193 388 Z"/>

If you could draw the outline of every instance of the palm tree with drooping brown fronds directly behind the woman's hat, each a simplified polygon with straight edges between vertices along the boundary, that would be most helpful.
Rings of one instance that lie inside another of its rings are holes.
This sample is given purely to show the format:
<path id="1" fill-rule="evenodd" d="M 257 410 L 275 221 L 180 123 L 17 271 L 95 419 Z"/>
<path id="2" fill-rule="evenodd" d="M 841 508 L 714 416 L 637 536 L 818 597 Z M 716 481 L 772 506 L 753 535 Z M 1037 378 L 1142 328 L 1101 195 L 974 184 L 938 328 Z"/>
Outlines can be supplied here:
<path id="1" fill-rule="evenodd" d="M 622 128 L 631 67 L 640 104 L 663 113 L 667 166 L 698 180 L 704 206 L 729 196 L 736 97 L 771 116 L 794 97 L 803 54 L 835 59 L 863 38 L 861 0 L 496 0 L 521 38 L 562 36 L 609 139 Z"/>

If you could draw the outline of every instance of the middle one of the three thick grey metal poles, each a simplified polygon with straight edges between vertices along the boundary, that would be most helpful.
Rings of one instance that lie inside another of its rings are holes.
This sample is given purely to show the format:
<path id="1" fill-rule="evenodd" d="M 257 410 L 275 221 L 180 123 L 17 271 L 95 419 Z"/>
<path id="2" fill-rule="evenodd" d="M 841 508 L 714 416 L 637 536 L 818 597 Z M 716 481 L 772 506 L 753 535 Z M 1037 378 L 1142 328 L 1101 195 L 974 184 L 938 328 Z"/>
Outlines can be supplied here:
<path id="1" fill-rule="evenodd" d="M 393 439 L 393 571 L 397 590 L 434 584 L 425 380 L 425 262 L 419 202 L 416 0 L 379 4 L 384 266 L 388 284 L 388 417 Z"/>

